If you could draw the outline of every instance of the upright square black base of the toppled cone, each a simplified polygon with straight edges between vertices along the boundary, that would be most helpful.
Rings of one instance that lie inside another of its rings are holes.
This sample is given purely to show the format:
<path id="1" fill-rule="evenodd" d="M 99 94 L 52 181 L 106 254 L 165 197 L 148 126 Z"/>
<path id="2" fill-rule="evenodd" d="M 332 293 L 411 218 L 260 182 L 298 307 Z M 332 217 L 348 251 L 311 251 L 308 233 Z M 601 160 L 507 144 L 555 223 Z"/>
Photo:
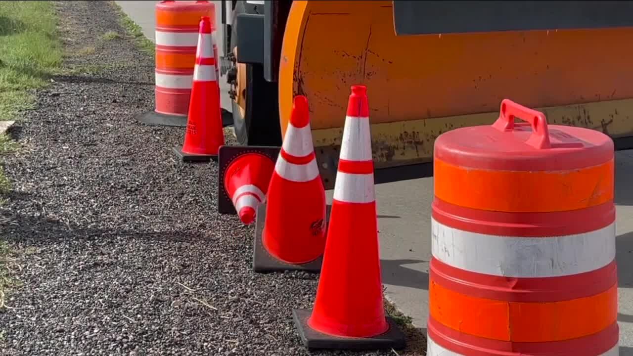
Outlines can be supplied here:
<path id="1" fill-rule="evenodd" d="M 218 213 L 237 214 L 231 197 L 224 187 L 224 177 L 229 165 L 240 156 L 248 153 L 259 153 L 275 162 L 280 149 L 281 147 L 275 146 L 220 146 L 218 149 L 218 166 L 220 167 L 218 169 Z"/>

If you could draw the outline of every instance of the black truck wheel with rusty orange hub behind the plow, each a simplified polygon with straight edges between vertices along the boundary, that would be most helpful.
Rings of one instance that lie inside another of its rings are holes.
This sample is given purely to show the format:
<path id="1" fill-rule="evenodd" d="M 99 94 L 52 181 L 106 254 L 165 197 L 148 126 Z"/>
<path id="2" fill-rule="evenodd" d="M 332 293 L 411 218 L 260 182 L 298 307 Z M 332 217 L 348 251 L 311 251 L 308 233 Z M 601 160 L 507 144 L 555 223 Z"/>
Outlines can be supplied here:
<path id="1" fill-rule="evenodd" d="M 237 63 L 237 14 L 246 13 L 246 1 L 237 1 L 233 11 L 230 49 L 234 71 L 229 82 L 235 137 L 242 146 L 281 146 L 277 83 L 264 79 L 258 64 Z M 258 13 L 251 8 L 248 13 Z"/>

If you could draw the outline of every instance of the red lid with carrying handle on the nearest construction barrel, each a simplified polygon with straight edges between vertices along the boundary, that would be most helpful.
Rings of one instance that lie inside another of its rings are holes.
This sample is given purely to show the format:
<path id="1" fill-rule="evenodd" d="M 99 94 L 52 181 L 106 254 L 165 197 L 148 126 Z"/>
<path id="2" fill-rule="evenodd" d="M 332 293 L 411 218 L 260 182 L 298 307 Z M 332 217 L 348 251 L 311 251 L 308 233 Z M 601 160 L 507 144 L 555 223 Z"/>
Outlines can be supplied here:
<path id="1" fill-rule="evenodd" d="M 515 117 L 526 122 L 515 124 Z M 505 99 L 494 124 L 437 137 L 434 158 L 486 170 L 574 170 L 611 160 L 613 141 L 597 130 L 548 125 L 543 113 Z"/>

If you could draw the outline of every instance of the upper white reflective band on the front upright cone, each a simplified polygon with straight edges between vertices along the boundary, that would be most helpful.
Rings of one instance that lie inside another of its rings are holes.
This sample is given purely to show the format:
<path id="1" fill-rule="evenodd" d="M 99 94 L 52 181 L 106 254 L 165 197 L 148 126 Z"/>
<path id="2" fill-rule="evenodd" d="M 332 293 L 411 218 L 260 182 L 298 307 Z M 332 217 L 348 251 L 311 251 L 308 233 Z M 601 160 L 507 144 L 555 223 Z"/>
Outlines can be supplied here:
<path id="1" fill-rule="evenodd" d="M 353 116 L 345 118 L 340 158 L 341 160 L 349 161 L 372 160 L 372 137 L 369 118 Z"/>

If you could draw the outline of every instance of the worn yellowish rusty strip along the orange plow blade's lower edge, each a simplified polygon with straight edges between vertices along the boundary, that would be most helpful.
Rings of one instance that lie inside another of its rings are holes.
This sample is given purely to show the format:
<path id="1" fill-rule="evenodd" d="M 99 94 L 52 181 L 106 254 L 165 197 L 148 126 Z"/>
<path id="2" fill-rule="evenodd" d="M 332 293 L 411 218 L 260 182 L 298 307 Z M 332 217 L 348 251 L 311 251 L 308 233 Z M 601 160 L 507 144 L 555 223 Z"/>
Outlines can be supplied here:
<path id="1" fill-rule="evenodd" d="M 587 127 L 599 130 L 613 139 L 633 136 L 633 99 L 536 109 L 545 113 L 549 124 Z M 492 111 L 372 124 L 372 154 L 375 168 L 431 162 L 437 136 L 458 127 L 492 124 L 498 115 L 498 111 Z M 331 189 L 327 187 L 333 187 L 342 129 L 313 130 L 312 134 L 323 184 L 326 189 Z M 618 147 L 625 148 L 629 147 Z"/>

